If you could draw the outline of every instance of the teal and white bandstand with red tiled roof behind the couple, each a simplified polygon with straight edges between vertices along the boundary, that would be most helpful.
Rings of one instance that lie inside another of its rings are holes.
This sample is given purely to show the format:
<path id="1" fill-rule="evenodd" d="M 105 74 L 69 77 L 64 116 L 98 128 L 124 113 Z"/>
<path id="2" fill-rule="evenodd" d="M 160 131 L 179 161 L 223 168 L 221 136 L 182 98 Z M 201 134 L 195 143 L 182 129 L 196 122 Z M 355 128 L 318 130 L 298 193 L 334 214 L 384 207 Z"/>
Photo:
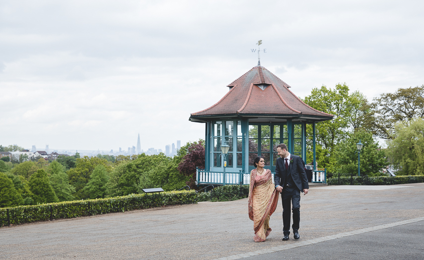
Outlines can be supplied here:
<path id="1" fill-rule="evenodd" d="M 307 163 L 306 124 L 312 125 L 315 165 L 315 123 L 333 115 L 303 103 L 288 84 L 260 65 L 227 87 L 228 93 L 218 103 L 189 118 L 205 124 L 205 169 L 197 169 L 197 185 L 248 184 L 256 156 L 264 157 L 265 168 L 274 174 L 275 147 L 280 143 Z M 230 146 L 225 171 L 222 145 Z M 313 181 L 324 182 L 324 178 Z"/>

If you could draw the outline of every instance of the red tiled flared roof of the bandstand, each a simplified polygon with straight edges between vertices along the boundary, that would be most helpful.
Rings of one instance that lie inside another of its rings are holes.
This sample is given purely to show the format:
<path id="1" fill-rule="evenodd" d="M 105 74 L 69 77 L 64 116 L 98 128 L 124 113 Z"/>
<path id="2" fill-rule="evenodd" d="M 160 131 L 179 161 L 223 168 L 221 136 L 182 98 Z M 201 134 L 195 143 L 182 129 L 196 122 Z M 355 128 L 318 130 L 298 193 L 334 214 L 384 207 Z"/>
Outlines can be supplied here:
<path id="1" fill-rule="evenodd" d="M 257 85 L 266 84 L 262 90 Z M 262 66 L 256 66 L 228 85 L 233 87 L 218 103 L 191 116 L 215 114 L 285 114 L 333 117 L 303 103 L 290 86 Z"/>

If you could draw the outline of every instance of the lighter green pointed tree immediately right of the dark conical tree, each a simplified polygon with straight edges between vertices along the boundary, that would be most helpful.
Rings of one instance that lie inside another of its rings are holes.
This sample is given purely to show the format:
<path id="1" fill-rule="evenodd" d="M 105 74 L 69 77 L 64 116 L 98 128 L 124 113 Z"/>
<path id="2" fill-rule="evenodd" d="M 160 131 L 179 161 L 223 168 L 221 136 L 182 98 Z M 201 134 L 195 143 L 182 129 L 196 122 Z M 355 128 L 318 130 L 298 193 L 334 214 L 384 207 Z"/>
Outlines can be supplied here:
<path id="1" fill-rule="evenodd" d="M 75 197 L 75 188 L 69 184 L 68 175 L 64 172 L 65 167 L 57 161 L 52 161 L 49 165 L 50 184 L 55 191 L 59 201 L 72 201 Z"/>

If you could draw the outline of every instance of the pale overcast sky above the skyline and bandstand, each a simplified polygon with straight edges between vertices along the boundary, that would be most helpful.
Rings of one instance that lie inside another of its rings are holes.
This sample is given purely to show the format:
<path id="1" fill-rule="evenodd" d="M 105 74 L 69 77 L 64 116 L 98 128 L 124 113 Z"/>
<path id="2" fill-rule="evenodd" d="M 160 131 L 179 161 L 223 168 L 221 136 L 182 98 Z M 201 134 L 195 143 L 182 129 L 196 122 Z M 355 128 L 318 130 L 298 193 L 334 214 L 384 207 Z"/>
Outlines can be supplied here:
<path id="1" fill-rule="evenodd" d="M 165 150 L 257 64 L 368 100 L 424 84 L 424 1 L 0 1 L 0 144 Z"/>

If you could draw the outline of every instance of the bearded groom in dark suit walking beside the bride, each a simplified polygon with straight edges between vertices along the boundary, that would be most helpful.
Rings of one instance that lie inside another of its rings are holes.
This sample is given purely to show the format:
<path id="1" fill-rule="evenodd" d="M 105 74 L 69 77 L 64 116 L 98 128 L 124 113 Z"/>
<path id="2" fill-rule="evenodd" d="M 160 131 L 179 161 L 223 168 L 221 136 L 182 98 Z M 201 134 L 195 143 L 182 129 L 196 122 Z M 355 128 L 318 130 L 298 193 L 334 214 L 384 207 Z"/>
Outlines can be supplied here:
<path id="1" fill-rule="evenodd" d="M 291 155 L 285 144 L 277 146 L 275 165 L 275 188 L 281 193 L 283 203 L 283 240 L 289 240 L 290 235 L 290 204 L 293 205 L 293 236 L 299 239 L 299 222 L 301 220 L 301 191 L 307 194 L 309 185 L 301 157 Z"/>

